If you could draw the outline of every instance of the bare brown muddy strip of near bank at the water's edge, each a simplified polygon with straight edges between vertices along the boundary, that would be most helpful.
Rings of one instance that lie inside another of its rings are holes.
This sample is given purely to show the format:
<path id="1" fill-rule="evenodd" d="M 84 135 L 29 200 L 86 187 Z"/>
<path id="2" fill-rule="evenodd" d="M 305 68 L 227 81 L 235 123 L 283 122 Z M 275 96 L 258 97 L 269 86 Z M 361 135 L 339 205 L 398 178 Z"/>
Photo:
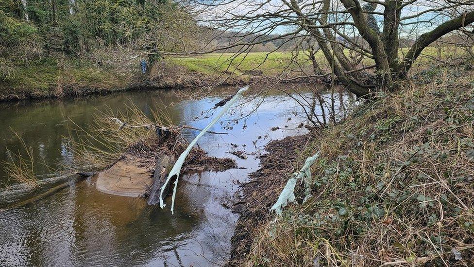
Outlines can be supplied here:
<path id="1" fill-rule="evenodd" d="M 298 166 L 297 162 L 304 161 L 298 151 L 304 150 L 316 136 L 316 132 L 289 136 L 265 146 L 267 153 L 260 156 L 260 169 L 249 175 L 249 182 L 241 185 L 241 199 L 233 210 L 240 216 L 232 237 L 228 266 L 239 266 L 246 259 L 254 230 L 272 218 L 269 214 L 271 206 L 278 199 L 288 176 Z"/>

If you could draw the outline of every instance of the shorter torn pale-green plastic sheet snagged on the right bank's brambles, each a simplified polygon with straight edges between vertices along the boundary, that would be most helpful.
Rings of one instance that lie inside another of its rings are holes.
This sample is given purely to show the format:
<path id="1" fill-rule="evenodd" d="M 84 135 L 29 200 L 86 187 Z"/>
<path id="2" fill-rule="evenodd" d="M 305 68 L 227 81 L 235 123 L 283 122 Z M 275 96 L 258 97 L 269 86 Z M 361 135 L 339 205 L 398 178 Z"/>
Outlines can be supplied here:
<path id="1" fill-rule="evenodd" d="M 312 157 L 309 157 L 305 161 L 305 165 L 299 170 L 291 175 L 291 178 L 288 179 L 285 188 L 283 188 L 282 193 L 278 197 L 276 203 L 270 208 L 270 212 L 273 210 L 276 214 L 282 214 L 282 208 L 285 207 L 289 202 L 295 201 L 295 186 L 298 180 L 302 179 L 305 182 L 305 192 L 306 196 L 303 200 L 306 201 L 309 197 L 311 197 L 311 170 L 310 167 L 319 157 L 319 153 L 314 154 Z"/>

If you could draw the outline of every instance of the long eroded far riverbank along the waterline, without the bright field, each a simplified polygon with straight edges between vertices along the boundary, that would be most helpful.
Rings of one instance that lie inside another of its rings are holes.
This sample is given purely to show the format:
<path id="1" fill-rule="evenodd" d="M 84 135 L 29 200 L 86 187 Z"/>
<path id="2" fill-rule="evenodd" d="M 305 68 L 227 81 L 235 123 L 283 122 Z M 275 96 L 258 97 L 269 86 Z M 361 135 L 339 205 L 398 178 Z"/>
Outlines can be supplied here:
<path id="1" fill-rule="evenodd" d="M 138 65 L 104 66 L 88 60 L 68 60 L 64 62 L 64 70 L 59 69 L 58 63 L 52 58 L 30 62 L 28 65 L 18 63 L 12 75 L 0 79 L 0 103 L 71 99 L 144 89 L 201 89 L 249 84 L 263 86 L 281 82 L 330 84 L 329 76 L 312 79 L 301 75 L 303 73 L 266 73 L 268 70 L 260 69 L 236 73 L 214 70 L 209 73 L 210 70 L 196 71 L 176 62 L 158 62 L 146 73 L 141 73 Z"/>

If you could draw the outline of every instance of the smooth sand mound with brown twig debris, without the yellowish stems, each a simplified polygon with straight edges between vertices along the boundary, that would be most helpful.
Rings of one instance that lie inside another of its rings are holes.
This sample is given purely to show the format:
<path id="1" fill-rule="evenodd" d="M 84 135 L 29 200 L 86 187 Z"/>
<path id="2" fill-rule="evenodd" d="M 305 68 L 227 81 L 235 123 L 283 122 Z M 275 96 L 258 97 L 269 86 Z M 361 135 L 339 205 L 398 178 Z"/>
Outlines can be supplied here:
<path id="1" fill-rule="evenodd" d="M 153 183 L 154 189 L 162 186 L 188 142 L 181 137 L 178 128 L 156 129 L 159 129 L 156 136 L 131 145 L 117 162 L 95 177 L 97 190 L 117 196 L 147 197 L 154 193 L 151 192 Z M 194 147 L 183 165 L 183 173 L 235 167 L 234 160 L 208 157 L 202 149 Z"/>

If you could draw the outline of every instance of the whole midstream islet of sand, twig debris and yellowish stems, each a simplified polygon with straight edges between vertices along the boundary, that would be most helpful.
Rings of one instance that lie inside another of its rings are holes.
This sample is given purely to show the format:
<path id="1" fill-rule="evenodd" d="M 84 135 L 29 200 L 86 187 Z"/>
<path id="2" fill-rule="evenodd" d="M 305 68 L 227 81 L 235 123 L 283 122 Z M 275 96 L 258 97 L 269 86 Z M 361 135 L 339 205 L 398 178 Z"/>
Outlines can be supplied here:
<path id="1" fill-rule="evenodd" d="M 77 166 L 85 166 L 87 171 L 103 170 L 98 175 L 96 188 L 104 193 L 150 195 L 153 180 L 161 174 L 161 170 L 155 172 L 157 164 L 162 164 L 166 158 L 166 166 L 159 168 L 168 169 L 168 165 L 186 150 L 189 155 L 182 162 L 182 173 L 236 167 L 234 160 L 209 157 L 199 146 L 188 148 L 189 142 L 182 137 L 182 131 L 201 130 L 188 125 L 172 125 L 166 110 L 157 110 L 152 118 L 135 106 L 118 112 L 110 110 L 97 115 L 89 128 L 89 131 L 78 129 L 76 136 L 71 137 L 74 159 Z"/>

